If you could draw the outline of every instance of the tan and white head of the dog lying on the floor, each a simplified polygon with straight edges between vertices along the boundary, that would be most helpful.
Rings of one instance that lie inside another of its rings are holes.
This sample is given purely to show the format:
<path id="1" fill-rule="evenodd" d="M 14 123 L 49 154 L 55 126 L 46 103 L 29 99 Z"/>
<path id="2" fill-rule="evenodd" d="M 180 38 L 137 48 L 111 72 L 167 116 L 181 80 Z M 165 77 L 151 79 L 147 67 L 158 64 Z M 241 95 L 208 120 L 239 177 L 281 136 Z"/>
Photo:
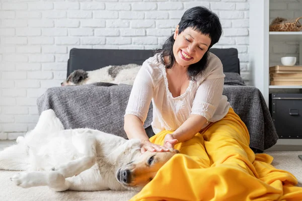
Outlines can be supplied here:
<path id="1" fill-rule="evenodd" d="M 122 185 L 140 190 L 176 153 L 179 153 L 176 149 L 168 152 L 146 151 L 127 165 L 120 167 L 116 172 L 116 178 Z"/>

